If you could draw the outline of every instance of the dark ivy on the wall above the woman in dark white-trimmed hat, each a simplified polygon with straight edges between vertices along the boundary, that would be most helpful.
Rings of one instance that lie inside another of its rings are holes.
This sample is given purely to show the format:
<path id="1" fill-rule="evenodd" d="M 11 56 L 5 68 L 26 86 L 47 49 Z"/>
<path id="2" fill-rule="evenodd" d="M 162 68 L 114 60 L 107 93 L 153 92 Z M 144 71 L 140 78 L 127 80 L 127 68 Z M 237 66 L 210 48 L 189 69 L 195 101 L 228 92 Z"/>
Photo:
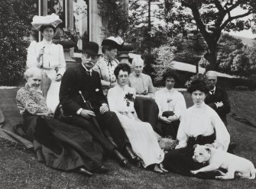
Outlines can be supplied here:
<path id="1" fill-rule="evenodd" d="M 128 12 L 122 0 L 97 0 L 105 36 L 123 36 L 128 30 Z"/>

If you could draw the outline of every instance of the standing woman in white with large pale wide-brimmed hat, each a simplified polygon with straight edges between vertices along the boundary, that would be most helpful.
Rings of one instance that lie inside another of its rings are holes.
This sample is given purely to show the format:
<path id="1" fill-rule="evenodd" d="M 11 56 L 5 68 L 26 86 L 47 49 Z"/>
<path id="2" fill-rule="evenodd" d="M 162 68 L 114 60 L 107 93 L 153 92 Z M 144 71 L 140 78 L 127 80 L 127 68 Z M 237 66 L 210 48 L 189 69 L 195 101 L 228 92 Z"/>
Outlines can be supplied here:
<path id="1" fill-rule="evenodd" d="M 56 27 L 62 21 L 56 14 L 34 16 L 32 25 L 43 35 L 41 42 L 32 41 L 28 47 L 27 66 L 37 67 L 43 72 L 41 89 L 47 107 L 55 111 L 59 104 L 60 81 L 66 71 L 63 46 L 52 42 Z"/>

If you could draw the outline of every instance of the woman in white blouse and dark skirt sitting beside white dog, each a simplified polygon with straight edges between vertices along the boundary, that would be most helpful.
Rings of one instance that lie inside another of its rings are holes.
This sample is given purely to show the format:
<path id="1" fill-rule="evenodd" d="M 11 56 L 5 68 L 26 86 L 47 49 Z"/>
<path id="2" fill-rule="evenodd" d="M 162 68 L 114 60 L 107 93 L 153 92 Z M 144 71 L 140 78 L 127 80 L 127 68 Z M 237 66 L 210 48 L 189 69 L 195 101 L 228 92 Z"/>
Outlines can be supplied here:
<path id="1" fill-rule="evenodd" d="M 203 164 L 193 161 L 193 146 L 209 145 L 227 151 L 230 136 L 219 115 L 204 103 L 208 89 L 203 81 L 193 81 L 188 88 L 193 107 L 186 109 L 177 134 L 179 144 L 164 157 L 164 168 L 190 176 L 190 171 L 202 168 Z M 215 178 L 216 172 L 199 172 L 196 177 Z"/>

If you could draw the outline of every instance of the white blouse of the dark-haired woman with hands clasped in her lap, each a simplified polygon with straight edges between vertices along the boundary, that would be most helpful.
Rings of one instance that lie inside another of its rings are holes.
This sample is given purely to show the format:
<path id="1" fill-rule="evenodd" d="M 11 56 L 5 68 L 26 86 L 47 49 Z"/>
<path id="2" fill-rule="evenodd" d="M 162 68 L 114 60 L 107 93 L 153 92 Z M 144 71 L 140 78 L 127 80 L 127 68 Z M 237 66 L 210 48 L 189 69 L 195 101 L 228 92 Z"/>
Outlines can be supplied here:
<path id="1" fill-rule="evenodd" d="M 164 111 L 173 111 L 174 114 L 180 119 L 181 114 L 186 110 L 186 102 L 183 94 L 176 89 L 161 88 L 154 94 L 155 101 L 159 109 L 159 116 Z"/>

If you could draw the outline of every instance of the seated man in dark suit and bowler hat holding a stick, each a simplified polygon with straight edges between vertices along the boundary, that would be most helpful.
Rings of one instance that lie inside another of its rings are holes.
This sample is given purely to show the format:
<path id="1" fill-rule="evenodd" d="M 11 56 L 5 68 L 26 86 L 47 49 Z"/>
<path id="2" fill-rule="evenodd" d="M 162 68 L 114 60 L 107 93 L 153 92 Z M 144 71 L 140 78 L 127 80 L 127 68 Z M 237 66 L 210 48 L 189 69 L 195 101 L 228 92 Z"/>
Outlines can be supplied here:
<path id="1" fill-rule="evenodd" d="M 134 154 L 118 117 L 114 112 L 109 111 L 99 73 L 92 70 L 99 59 L 98 51 L 97 43 L 86 43 L 82 50 L 82 63 L 66 70 L 60 85 L 60 104 L 63 114 L 68 117 L 66 121 L 88 131 L 106 152 L 115 155 L 120 164 L 125 166 L 128 161 L 117 151 L 117 148 L 130 155 L 131 159 L 134 158 L 132 157 Z M 89 102 L 90 108 L 85 106 L 83 98 Z M 96 119 L 100 128 L 96 127 L 93 119 Z M 103 132 L 107 130 L 115 143 L 106 139 L 102 130 Z"/>

